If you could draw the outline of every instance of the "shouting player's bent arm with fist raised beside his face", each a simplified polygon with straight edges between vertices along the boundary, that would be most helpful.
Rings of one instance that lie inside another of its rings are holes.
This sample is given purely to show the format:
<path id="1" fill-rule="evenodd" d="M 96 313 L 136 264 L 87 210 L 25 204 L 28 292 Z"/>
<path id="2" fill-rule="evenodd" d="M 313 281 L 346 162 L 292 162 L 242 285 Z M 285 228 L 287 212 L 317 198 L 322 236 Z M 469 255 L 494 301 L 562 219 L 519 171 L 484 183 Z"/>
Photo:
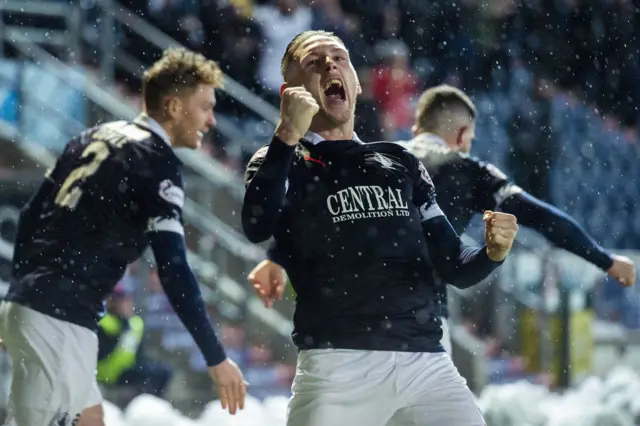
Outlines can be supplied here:
<path id="1" fill-rule="evenodd" d="M 266 241 L 275 232 L 284 207 L 295 147 L 318 108 L 303 87 L 289 87 L 282 93 L 280 123 L 273 140 L 255 153 L 245 173 L 242 229 L 249 241 Z"/>

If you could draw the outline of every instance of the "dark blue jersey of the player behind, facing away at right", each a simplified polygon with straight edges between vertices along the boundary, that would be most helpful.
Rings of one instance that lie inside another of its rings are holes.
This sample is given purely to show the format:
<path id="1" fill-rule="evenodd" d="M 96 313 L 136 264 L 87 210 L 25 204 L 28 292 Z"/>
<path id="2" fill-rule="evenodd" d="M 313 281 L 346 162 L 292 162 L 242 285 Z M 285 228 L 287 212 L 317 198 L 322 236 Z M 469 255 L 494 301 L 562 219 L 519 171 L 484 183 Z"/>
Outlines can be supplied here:
<path id="1" fill-rule="evenodd" d="M 611 267 L 611 255 L 571 217 L 526 194 L 493 164 L 452 151 L 429 133 L 400 144 L 426 167 L 438 191 L 438 204 L 458 234 L 464 232 L 473 215 L 499 210 L 515 215 L 519 224 L 601 269 Z M 443 315 L 447 316 L 446 291 L 442 297 Z"/>

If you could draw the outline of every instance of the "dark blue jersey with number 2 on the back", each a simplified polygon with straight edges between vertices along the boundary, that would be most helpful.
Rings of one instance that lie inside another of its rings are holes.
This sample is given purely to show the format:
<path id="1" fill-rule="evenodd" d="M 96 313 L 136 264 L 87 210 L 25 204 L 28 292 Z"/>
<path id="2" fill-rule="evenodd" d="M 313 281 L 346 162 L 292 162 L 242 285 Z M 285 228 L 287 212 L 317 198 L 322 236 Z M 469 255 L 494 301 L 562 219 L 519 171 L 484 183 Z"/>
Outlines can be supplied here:
<path id="1" fill-rule="evenodd" d="M 147 231 L 182 233 L 183 202 L 181 162 L 144 121 L 87 130 L 21 213 L 7 299 L 95 329 Z"/>

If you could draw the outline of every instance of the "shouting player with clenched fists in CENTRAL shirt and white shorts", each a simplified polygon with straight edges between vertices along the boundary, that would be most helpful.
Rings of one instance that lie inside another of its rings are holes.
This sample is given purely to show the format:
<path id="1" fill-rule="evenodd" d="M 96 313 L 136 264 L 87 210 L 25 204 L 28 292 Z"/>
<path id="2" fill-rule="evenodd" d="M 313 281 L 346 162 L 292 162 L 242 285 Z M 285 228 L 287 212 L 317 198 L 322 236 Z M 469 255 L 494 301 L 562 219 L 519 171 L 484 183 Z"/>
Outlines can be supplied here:
<path id="1" fill-rule="evenodd" d="M 273 140 L 247 166 L 242 225 L 291 277 L 299 349 L 289 426 L 481 426 L 440 340 L 434 275 L 469 287 L 504 260 L 513 215 L 462 243 L 419 160 L 354 133 L 359 82 L 342 40 L 307 31 L 282 59 Z M 427 254 L 428 253 L 428 254 Z"/>

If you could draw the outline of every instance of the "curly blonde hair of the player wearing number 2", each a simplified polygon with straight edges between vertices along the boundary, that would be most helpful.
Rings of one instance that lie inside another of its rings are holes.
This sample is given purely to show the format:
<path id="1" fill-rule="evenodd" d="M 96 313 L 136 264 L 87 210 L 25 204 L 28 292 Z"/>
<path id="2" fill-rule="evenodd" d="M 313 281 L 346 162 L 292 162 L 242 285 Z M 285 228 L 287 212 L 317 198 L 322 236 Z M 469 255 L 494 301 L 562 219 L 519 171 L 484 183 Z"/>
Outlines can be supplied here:
<path id="1" fill-rule="evenodd" d="M 156 111 L 162 99 L 184 90 L 195 90 L 200 84 L 222 86 L 218 64 L 200 53 L 184 48 L 170 48 L 162 53 L 142 78 L 142 98 L 147 110 Z"/>

